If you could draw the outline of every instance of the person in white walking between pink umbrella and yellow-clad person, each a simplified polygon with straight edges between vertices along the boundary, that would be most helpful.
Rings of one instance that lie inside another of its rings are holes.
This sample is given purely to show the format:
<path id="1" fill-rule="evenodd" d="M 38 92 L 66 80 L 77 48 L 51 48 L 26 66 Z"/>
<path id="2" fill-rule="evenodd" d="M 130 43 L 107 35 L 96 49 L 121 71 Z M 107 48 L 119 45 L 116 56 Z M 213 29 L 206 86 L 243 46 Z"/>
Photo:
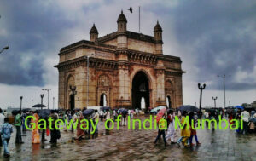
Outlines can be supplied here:
<path id="1" fill-rule="evenodd" d="M 167 124 L 169 124 L 169 125 L 168 125 L 166 140 L 168 141 L 168 139 L 171 138 L 171 144 L 173 144 L 173 143 L 175 143 L 174 142 L 175 129 L 174 129 L 174 116 L 173 116 L 172 109 L 167 112 L 167 115 L 168 115 L 167 116 Z"/>

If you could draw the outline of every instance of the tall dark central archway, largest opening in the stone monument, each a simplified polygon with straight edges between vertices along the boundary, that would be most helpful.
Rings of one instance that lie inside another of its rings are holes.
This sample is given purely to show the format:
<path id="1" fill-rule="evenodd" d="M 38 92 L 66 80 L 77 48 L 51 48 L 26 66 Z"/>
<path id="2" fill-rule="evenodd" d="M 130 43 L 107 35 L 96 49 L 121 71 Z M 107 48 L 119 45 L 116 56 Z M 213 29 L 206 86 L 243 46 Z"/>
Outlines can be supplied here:
<path id="1" fill-rule="evenodd" d="M 140 71 L 132 80 L 132 107 L 142 109 L 142 100 L 145 102 L 145 109 L 149 107 L 149 83 L 147 75 Z"/>

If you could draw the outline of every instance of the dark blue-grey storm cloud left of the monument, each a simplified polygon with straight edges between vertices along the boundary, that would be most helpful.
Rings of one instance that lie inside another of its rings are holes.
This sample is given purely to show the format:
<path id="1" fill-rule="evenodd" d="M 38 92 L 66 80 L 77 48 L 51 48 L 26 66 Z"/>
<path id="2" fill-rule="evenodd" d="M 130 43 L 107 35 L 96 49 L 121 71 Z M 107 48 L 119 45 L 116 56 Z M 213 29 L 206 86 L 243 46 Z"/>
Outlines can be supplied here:
<path id="1" fill-rule="evenodd" d="M 61 17 L 55 6 L 46 8 L 36 1 L 3 1 L 0 10 L 0 26 L 5 31 L 1 48 L 9 45 L 0 55 L 0 83 L 44 86 L 43 61 L 56 55 L 54 43 L 73 23 Z"/>

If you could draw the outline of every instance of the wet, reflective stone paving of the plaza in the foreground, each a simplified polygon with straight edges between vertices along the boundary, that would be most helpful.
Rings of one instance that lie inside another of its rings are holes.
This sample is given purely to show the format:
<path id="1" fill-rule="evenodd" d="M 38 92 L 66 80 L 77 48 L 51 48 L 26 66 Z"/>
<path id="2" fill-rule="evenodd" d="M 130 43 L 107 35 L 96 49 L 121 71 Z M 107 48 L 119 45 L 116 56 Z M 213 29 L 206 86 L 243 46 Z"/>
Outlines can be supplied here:
<path id="1" fill-rule="evenodd" d="M 140 119 L 148 117 L 140 116 Z M 153 125 L 154 127 L 154 125 Z M 183 147 L 163 141 L 154 144 L 157 130 L 128 130 L 127 126 L 106 131 L 100 124 L 99 135 L 82 141 L 72 141 L 71 131 L 61 131 L 56 146 L 48 141 L 31 144 L 31 131 L 22 136 L 25 142 L 15 145 L 15 133 L 9 141 L 10 158 L 0 160 L 251 160 L 256 161 L 256 134 L 237 135 L 235 131 L 201 129 L 197 135 L 201 146 Z M 175 139 L 180 133 L 177 130 Z M 195 141 L 195 140 L 194 140 Z M 195 143 L 195 142 L 194 142 Z"/>

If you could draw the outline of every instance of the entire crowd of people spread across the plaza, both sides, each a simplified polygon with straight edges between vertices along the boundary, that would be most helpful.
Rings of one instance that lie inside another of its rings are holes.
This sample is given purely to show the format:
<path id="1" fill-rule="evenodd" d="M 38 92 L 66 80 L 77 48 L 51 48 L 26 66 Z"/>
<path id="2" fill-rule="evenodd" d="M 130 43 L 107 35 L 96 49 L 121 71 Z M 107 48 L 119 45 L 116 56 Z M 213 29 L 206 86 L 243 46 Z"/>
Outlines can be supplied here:
<path id="1" fill-rule="evenodd" d="M 49 129 L 49 124 L 47 123 L 47 129 L 38 129 L 38 120 L 42 117 L 38 115 L 38 111 L 26 111 L 21 112 L 18 111 L 14 114 L 14 123 L 12 123 L 15 126 L 16 129 L 16 136 L 15 136 L 15 143 L 16 144 L 22 144 L 24 143 L 22 141 L 21 137 L 21 130 L 26 131 L 25 126 L 25 120 L 27 116 L 33 116 L 34 119 L 28 119 L 28 125 L 30 123 L 34 124 L 35 128 L 32 129 L 32 144 L 39 144 L 41 142 L 47 141 L 45 139 L 45 135 L 50 135 L 50 143 L 56 144 L 57 140 L 61 138 L 61 131 L 59 129 L 55 128 L 55 120 L 61 118 L 67 120 L 67 122 L 70 122 L 73 120 L 73 122 L 76 122 L 78 120 L 78 126 L 77 129 L 71 129 L 73 132 L 73 140 L 83 140 L 86 138 L 86 136 L 90 136 L 92 124 L 91 121 L 95 124 L 96 122 L 104 122 L 107 119 L 113 119 L 115 121 L 118 117 L 118 115 L 122 115 L 121 117 L 121 125 L 127 124 L 127 116 L 130 116 L 131 118 L 134 117 L 134 115 L 138 114 L 138 110 L 125 110 L 121 111 L 120 109 L 112 110 L 110 108 L 104 109 L 104 110 L 93 110 L 92 113 L 88 116 L 84 116 L 84 111 L 86 108 L 80 110 L 50 110 L 49 116 L 44 118 L 47 120 L 49 117 L 52 118 L 54 121 L 53 123 L 53 129 Z M 189 116 L 189 124 L 185 124 L 183 129 L 180 129 L 180 137 L 175 141 L 174 135 L 175 135 L 175 121 L 174 118 L 177 116 L 177 118 L 180 119 L 181 124 L 184 124 L 185 118 Z M 230 124 L 232 124 L 232 119 L 236 118 L 238 120 L 243 121 L 243 129 L 241 127 L 236 130 L 237 133 L 241 133 L 243 135 L 246 135 L 249 132 L 255 132 L 255 124 L 256 124 L 256 112 L 254 110 L 247 111 L 247 109 L 211 109 L 211 110 L 203 110 L 201 113 L 197 112 L 187 112 L 187 111 L 173 111 L 173 109 L 168 109 L 167 112 L 160 118 L 160 120 L 166 120 L 158 121 L 159 126 L 162 127 L 158 129 L 158 135 L 154 140 L 154 143 L 157 143 L 160 141 L 160 137 L 162 136 L 163 141 L 165 143 L 165 146 L 167 144 L 167 141 L 171 140 L 171 144 L 183 144 L 184 147 L 193 147 L 199 146 L 201 142 L 198 140 L 196 135 L 196 130 L 192 128 L 192 125 L 196 127 L 196 122 L 198 118 L 209 118 L 209 119 L 216 119 L 218 121 L 218 116 L 227 117 L 229 118 Z M 89 121 L 88 128 L 85 129 L 81 128 L 81 121 L 86 118 Z M 192 124 L 193 123 L 195 124 Z M 109 128 L 109 123 L 107 124 Z M 4 156 L 9 157 L 9 140 L 11 138 L 11 134 L 13 133 L 13 126 L 10 124 L 9 117 L 7 116 L 6 112 L 3 112 L 0 108 L 0 146 L 4 148 Z M 164 129 L 167 124 L 167 130 Z M 189 126 L 189 128 L 187 128 Z M 67 131 L 67 128 L 64 129 Z M 40 137 L 41 133 L 41 137 Z M 98 135 L 98 127 L 96 127 L 96 131 L 93 135 Z M 193 138 L 195 138 L 195 144 L 193 143 Z"/>

